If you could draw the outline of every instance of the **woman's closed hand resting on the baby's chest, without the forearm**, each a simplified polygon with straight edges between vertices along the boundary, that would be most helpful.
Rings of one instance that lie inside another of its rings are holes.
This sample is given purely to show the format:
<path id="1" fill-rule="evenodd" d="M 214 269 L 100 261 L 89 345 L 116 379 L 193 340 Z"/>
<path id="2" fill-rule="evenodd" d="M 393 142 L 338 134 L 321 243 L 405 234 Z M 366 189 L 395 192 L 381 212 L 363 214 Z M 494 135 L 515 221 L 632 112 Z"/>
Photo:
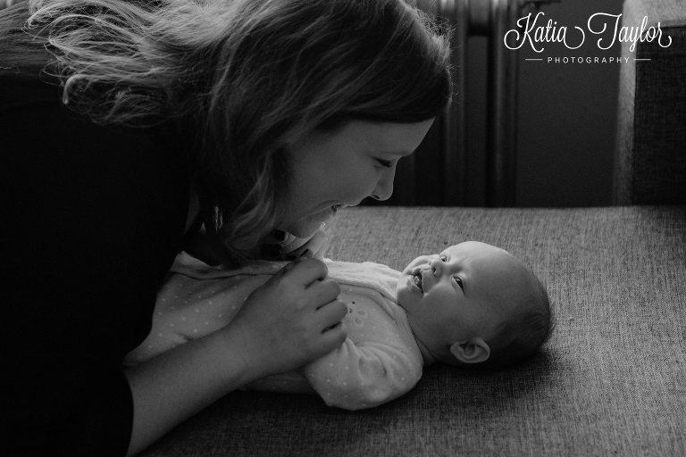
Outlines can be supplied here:
<path id="1" fill-rule="evenodd" d="M 330 353 L 346 339 L 347 306 L 326 265 L 297 259 L 259 287 L 222 330 L 238 348 L 248 378 L 297 369 Z M 235 349 L 234 349 L 235 350 Z"/>

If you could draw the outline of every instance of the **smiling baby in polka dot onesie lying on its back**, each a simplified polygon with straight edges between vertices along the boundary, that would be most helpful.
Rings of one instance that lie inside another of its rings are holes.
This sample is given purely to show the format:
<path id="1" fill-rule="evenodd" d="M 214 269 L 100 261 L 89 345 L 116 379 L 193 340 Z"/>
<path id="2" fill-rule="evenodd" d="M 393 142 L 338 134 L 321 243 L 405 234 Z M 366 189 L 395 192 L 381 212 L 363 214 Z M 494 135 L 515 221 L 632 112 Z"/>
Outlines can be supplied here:
<path id="1" fill-rule="evenodd" d="M 349 410 L 405 394 L 435 361 L 503 368 L 549 337 L 546 290 L 515 256 L 469 241 L 414 259 L 401 273 L 372 262 L 325 260 L 348 306 L 347 340 L 302 370 L 248 389 L 315 393 Z M 153 330 L 125 361 L 135 364 L 222 328 L 282 262 L 241 270 L 210 267 L 181 253 L 155 306 Z"/>

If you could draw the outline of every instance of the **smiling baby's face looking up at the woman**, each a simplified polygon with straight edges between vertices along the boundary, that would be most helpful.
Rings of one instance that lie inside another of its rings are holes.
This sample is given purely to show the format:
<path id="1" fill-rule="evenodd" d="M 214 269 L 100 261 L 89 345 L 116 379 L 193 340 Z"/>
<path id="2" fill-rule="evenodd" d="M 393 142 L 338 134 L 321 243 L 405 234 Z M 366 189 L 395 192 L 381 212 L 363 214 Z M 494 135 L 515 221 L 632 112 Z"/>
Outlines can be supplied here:
<path id="1" fill-rule="evenodd" d="M 529 287 L 530 274 L 515 256 L 468 241 L 414 259 L 396 292 L 415 337 L 440 361 L 455 343 L 496 335 L 513 311 L 511 303 L 519 302 L 509 298 Z"/>

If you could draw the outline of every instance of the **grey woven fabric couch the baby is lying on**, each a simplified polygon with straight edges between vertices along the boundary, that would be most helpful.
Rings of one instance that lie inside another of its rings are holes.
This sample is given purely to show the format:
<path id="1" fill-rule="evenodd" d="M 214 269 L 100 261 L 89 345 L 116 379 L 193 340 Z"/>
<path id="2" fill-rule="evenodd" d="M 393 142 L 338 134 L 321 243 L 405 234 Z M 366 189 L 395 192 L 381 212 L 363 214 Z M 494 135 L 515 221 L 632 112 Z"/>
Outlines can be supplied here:
<path id="1" fill-rule="evenodd" d="M 539 356 L 494 372 L 431 366 L 411 393 L 366 411 L 234 392 L 144 455 L 686 455 L 684 10 L 682 0 L 624 5 L 624 21 L 661 21 L 673 44 L 640 43 L 639 57 L 651 61 L 622 67 L 621 205 L 340 215 L 333 259 L 401 269 L 417 254 L 476 239 L 530 264 L 556 310 Z"/>

